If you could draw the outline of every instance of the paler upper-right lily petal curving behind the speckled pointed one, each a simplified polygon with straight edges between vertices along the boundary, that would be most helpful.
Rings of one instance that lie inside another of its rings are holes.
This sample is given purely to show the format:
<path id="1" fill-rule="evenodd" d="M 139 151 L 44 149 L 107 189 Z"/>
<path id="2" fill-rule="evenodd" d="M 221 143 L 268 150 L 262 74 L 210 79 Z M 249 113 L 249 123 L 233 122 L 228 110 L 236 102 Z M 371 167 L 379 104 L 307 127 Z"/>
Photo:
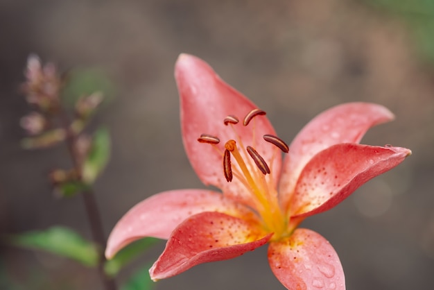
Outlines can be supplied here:
<path id="1" fill-rule="evenodd" d="M 340 143 L 358 143 L 366 131 L 394 118 L 392 112 L 373 103 L 345 103 L 312 119 L 290 144 L 281 177 L 281 203 L 286 209 L 303 167 L 316 153 Z"/>

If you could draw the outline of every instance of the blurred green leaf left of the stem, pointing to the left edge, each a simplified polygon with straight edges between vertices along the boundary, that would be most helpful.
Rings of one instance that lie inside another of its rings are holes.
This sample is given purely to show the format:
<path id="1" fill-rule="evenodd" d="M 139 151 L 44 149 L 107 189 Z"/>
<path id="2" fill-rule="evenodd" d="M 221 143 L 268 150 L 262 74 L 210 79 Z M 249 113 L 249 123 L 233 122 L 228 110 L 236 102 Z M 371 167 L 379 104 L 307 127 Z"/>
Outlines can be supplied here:
<path id="1" fill-rule="evenodd" d="M 85 266 L 98 264 L 98 250 L 80 234 L 60 226 L 10 236 L 10 243 L 23 248 L 46 250 L 55 255 L 74 259 Z"/>

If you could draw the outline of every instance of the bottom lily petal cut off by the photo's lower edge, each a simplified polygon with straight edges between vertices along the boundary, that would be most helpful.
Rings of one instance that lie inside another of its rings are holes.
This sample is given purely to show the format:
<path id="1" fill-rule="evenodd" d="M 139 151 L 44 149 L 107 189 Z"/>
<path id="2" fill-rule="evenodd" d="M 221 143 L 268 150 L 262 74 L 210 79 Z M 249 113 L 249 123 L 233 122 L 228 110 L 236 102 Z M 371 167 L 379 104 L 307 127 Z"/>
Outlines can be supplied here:
<path id="1" fill-rule="evenodd" d="M 288 238 L 270 243 L 268 262 L 288 289 L 345 289 L 336 251 L 317 232 L 299 228 Z"/>

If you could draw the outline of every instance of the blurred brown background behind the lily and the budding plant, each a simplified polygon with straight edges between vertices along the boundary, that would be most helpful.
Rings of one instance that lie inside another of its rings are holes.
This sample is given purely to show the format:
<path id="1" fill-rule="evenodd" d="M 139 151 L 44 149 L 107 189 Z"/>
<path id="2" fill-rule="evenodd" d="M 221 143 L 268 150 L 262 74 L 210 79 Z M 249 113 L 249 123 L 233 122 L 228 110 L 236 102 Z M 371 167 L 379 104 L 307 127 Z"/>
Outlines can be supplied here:
<path id="1" fill-rule="evenodd" d="M 433 289 L 434 65 L 416 37 L 404 17 L 362 0 L 2 0 L 1 231 L 62 224 L 89 237 L 81 200 L 53 198 L 46 181 L 46 173 L 67 164 L 66 149 L 19 147 L 19 118 L 29 108 L 18 87 L 32 52 L 61 69 L 103 69 L 116 87 L 116 98 L 97 119 L 113 139 L 112 160 L 96 185 L 107 234 L 147 196 L 203 187 L 182 147 L 173 80 L 175 60 L 186 52 L 209 62 L 266 110 L 287 142 L 338 103 L 390 108 L 397 119 L 370 130 L 363 143 L 408 147 L 413 155 L 303 226 L 331 241 L 347 289 Z M 119 280 L 153 262 L 163 247 L 126 268 Z M 1 248 L 0 255 L 0 277 L 18 281 L 17 289 L 100 289 L 95 273 L 74 262 L 15 248 Z M 268 268 L 263 247 L 196 266 L 156 289 L 284 287 Z"/>

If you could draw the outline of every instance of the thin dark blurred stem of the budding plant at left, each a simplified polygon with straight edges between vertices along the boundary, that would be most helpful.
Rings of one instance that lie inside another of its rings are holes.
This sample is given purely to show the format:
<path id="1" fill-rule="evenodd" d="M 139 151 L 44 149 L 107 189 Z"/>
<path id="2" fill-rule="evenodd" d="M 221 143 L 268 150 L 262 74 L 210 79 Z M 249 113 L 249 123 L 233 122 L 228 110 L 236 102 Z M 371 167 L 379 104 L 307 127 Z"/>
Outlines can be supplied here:
<path id="1" fill-rule="evenodd" d="M 63 128 L 67 133 L 67 147 L 69 155 L 71 157 L 73 168 L 78 174 L 78 179 L 83 181 L 82 170 L 80 164 L 79 153 L 77 152 L 76 143 L 78 135 L 71 130 L 70 121 L 67 113 L 63 110 L 62 105 L 59 104 L 59 115 L 62 121 Z M 98 246 L 99 260 L 98 260 L 98 273 L 103 282 L 105 290 L 116 290 L 116 282 L 113 278 L 108 277 L 104 271 L 105 256 L 103 250 L 105 249 L 105 234 L 103 230 L 103 222 L 101 220 L 101 214 L 98 209 L 98 204 L 96 203 L 94 192 L 92 188 L 84 191 L 81 196 L 83 196 L 83 202 L 85 203 L 85 210 L 87 212 L 87 219 L 89 221 L 90 230 L 92 232 L 92 239 L 94 243 Z"/>

